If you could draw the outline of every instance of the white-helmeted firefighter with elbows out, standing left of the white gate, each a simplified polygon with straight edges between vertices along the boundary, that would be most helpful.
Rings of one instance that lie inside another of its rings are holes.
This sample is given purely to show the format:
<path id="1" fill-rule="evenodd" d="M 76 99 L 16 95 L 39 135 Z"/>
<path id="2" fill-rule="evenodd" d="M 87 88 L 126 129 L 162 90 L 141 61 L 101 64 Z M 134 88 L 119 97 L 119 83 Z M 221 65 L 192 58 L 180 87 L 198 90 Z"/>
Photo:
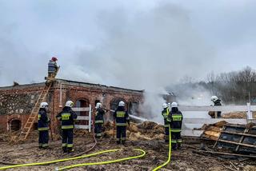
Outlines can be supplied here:
<path id="1" fill-rule="evenodd" d="M 62 149 L 64 153 L 74 152 L 73 148 L 73 131 L 74 121 L 77 114 L 71 109 L 74 106 L 73 101 L 66 101 L 65 107 L 61 113 L 56 116 L 58 121 L 62 121 Z"/>

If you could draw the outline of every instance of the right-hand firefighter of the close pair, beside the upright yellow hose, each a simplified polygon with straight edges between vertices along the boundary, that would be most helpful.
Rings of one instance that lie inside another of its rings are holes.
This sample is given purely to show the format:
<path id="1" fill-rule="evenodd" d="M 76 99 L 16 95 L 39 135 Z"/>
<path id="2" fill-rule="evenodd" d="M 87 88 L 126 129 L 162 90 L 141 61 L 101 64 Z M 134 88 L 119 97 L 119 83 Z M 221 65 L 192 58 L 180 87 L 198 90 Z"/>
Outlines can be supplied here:
<path id="1" fill-rule="evenodd" d="M 178 110 L 178 104 L 172 102 L 171 111 L 167 118 L 167 121 L 170 122 L 170 132 L 171 132 L 171 145 L 172 149 L 181 149 L 182 148 L 182 112 Z"/>

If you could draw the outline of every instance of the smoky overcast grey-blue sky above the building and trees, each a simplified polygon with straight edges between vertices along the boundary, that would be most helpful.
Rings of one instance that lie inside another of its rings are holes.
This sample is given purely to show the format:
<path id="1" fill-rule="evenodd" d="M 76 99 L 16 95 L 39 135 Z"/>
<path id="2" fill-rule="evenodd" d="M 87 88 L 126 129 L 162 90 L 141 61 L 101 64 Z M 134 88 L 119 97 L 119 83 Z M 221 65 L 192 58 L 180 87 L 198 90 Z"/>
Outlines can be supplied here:
<path id="1" fill-rule="evenodd" d="M 255 69 L 255 9 L 254 0 L 0 0 L 0 85 L 42 82 L 52 56 L 58 78 L 136 89 Z"/>

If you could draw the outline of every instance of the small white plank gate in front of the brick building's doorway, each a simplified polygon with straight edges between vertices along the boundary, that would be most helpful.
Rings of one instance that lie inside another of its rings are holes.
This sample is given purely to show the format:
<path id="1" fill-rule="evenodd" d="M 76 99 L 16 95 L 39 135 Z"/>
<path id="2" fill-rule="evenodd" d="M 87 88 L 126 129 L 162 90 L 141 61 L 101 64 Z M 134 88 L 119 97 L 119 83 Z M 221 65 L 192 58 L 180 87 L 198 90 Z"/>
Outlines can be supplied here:
<path id="1" fill-rule="evenodd" d="M 91 119 L 91 105 L 86 108 L 72 108 L 74 112 L 89 112 L 89 116 L 78 116 L 78 121 L 88 121 L 88 125 L 74 125 L 76 129 L 88 129 L 91 131 L 92 119 Z"/>

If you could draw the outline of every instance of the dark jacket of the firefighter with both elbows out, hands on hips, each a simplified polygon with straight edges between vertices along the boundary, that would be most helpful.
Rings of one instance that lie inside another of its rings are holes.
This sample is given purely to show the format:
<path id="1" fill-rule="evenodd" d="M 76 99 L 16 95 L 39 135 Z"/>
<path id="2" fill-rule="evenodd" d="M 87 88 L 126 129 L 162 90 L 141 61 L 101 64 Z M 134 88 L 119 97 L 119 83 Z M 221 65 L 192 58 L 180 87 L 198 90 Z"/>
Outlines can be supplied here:
<path id="1" fill-rule="evenodd" d="M 74 121 L 78 115 L 70 107 L 64 107 L 56 117 L 58 121 L 62 121 L 62 129 L 74 129 Z"/>

